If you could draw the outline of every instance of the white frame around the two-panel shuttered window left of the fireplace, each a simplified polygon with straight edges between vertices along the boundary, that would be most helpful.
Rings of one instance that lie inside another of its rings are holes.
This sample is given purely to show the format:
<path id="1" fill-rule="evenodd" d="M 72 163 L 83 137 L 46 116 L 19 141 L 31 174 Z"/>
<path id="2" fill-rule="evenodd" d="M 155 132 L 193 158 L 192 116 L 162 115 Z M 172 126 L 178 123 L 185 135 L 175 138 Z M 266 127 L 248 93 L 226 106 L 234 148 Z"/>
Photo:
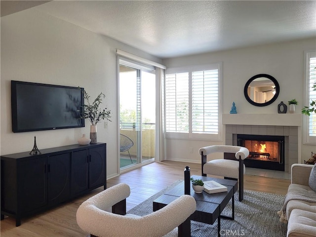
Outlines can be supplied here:
<path id="1" fill-rule="evenodd" d="M 166 139 L 180 139 L 180 140 L 207 140 L 207 141 L 223 141 L 223 125 L 222 125 L 222 83 L 223 70 L 222 62 L 212 63 L 207 65 L 196 65 L 188 67 L 174 67 L 165 70 L 167 74 L 185 73 L 189 72 L 189 132 L 167 132 L 165 131 Z M 192 72 L 218 70 L 218 133 L 193 133 L 192 132 Z M 166 82 L 164 81 L 164 91 Z M 164 93 L 164 115 L 166 115 L 166 95 Z M 166 128 L 166 118 L 164 119 L 164 127 Z"/>

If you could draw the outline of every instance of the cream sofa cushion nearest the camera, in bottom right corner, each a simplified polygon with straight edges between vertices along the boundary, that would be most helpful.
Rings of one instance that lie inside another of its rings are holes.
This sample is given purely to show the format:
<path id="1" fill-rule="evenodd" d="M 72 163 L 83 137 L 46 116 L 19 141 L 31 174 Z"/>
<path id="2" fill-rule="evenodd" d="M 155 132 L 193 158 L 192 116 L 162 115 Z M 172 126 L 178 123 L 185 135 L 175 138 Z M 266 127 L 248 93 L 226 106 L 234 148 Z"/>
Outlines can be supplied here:
<path id="1" fill-rule="evenodd" d="M 316 215 L 299 209 L 292 211 L 287 225 L 287 237 L 315 237 Z"/>

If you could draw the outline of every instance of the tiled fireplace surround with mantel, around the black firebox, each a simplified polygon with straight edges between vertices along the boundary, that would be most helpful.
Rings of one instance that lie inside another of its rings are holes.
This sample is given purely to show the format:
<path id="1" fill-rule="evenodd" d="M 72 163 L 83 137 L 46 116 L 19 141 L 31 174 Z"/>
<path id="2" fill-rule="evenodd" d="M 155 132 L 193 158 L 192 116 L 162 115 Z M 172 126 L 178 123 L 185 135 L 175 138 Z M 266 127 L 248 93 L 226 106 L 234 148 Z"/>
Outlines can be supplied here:
<path id="1" fill-rule="evenodd" d="M 265 117 L 267 116 L 223 115 L 225 144 L 237 146 L 237 134 L 284 136 L 284 172 L 289 173 L 291 165 L 300 163 L 301 160 L 301 144 L 298 142 L 301 139 L 301 116 L 276 114 L 271 115 L 270 119 Z"/>

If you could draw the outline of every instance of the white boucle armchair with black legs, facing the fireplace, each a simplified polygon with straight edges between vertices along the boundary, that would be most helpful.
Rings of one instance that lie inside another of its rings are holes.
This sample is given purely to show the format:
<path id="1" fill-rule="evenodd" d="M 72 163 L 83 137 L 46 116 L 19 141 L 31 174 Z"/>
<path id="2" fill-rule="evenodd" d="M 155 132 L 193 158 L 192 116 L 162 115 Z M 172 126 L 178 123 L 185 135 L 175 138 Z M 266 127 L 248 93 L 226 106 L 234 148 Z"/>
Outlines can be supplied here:
<path id="1" fill-rule="evenodd" d="M 243 160 L 249 156 L 249 150 L 239 146 L 214 145 L 202 147 L 198 152 L 201 155 L 202 176 L 210 174 L 238 180 L 239 201 L 242 201 L 243 175 L 246 170 Z M 234 153 L 237 160 L 213 159 L 207 162 L 206 156 L 212 153 Z"/>

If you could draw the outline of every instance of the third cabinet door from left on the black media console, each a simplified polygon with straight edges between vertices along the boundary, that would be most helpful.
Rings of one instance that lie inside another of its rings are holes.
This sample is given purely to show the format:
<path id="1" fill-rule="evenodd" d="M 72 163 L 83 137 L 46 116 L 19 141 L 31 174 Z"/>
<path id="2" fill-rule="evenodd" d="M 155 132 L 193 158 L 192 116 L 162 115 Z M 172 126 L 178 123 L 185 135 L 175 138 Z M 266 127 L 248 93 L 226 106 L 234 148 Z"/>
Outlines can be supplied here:
<path id="1" fill-rule="evenodd" d="M 73 152 L 71 157 L 71 194 L 88 189 L 88 150 Z"/>

